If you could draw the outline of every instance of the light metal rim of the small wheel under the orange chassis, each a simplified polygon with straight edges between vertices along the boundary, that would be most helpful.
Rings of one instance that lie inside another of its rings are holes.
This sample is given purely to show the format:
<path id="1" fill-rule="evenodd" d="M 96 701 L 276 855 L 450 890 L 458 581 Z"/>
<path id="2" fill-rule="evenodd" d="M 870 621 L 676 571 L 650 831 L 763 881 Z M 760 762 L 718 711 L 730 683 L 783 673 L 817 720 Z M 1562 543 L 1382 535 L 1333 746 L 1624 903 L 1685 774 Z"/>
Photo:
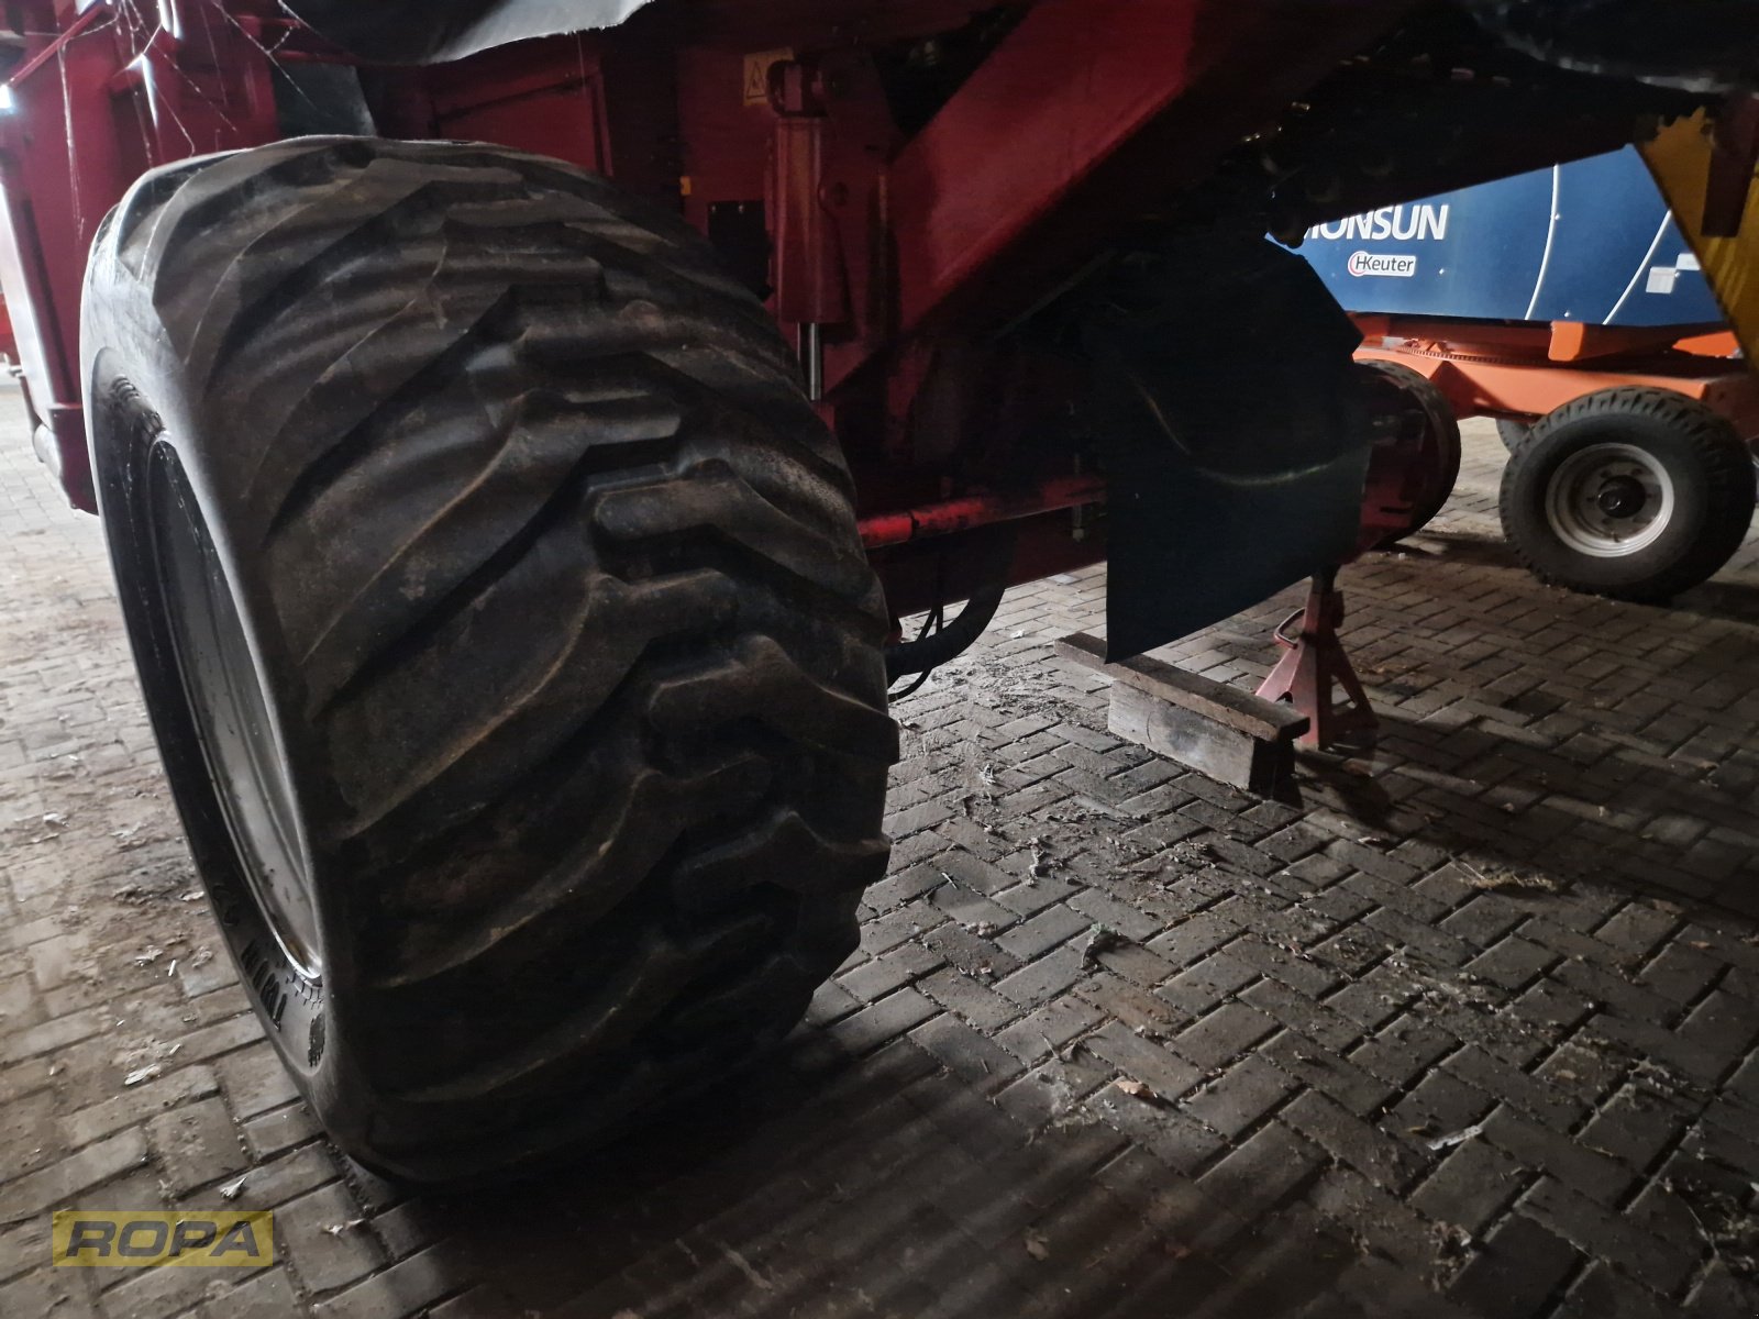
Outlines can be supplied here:
<path id="1" fill-rule="evenodd" d="M 1564 459 L 1546 487 L 1546 522 L 1553 535 L 1597 559 L 1653 545 L 1673 510 L 1673 478 L 1634 445 L 1588 445 Z"/>

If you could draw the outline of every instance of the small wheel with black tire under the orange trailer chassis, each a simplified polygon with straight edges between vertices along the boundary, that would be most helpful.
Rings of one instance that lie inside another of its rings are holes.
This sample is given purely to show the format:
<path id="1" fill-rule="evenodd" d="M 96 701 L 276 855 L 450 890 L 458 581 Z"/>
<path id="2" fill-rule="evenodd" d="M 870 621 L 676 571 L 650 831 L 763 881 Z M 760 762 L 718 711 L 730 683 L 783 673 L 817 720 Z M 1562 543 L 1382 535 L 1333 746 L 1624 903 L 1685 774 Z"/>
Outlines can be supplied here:
<path id="1" fill-rule="evenodd" d="M 1502 471 L 1499 508 L 1502 535 L 1541 580 L 1657 603 L 1740 549 L 1754 466 L 1703 403 L 1627 385 L 1536 422 Z"/>

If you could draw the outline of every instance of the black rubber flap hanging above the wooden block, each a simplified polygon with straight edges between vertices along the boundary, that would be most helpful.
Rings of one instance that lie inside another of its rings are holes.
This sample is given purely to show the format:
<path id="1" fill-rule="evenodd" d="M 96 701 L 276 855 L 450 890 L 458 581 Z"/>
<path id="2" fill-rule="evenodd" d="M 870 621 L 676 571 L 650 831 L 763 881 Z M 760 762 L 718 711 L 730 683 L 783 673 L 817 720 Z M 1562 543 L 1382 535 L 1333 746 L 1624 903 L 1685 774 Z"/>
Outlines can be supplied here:
<path id="1" fill-rule="evenodd" d="M 1372 436 L 1349 317 L 1295 253 L 1191 234 L 1082 295 L 1122 660 L 1354 556 Z"/>

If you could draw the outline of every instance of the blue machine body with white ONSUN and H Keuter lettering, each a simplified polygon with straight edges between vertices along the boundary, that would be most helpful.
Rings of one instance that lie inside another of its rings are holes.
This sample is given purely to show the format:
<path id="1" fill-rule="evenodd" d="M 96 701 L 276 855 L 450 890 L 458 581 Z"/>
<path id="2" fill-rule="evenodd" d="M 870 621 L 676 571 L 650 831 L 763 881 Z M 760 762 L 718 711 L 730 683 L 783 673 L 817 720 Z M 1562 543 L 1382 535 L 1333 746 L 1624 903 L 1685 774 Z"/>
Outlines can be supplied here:
<path id="1" fill-rule="evenodd" d="M 1722 322 L 1634 148 L 1316 225 L 1296 251 L 1347 311 Z"/>

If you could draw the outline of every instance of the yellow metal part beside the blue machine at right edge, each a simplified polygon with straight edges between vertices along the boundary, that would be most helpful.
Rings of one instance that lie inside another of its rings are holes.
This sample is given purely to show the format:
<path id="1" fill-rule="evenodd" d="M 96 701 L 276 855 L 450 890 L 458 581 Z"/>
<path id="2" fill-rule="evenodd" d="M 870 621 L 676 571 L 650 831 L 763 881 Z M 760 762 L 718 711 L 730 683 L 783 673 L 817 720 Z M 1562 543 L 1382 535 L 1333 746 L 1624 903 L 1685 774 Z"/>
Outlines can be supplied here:
<path id="1" fill-rule="evenodd" d="M 1699 111 L 1668 125 L 1639 149 L 1673 208 L 1680 232 L 1697 253 L 1704 278 L 1715 288 L 1747 361 L 1759 362 L 1759 171 L 1747 186 L 1740 232 L 1733 237 L 1708 237 L 1704 200 L 1715 157 L 1712 132 L 1710 118 Z"/>

